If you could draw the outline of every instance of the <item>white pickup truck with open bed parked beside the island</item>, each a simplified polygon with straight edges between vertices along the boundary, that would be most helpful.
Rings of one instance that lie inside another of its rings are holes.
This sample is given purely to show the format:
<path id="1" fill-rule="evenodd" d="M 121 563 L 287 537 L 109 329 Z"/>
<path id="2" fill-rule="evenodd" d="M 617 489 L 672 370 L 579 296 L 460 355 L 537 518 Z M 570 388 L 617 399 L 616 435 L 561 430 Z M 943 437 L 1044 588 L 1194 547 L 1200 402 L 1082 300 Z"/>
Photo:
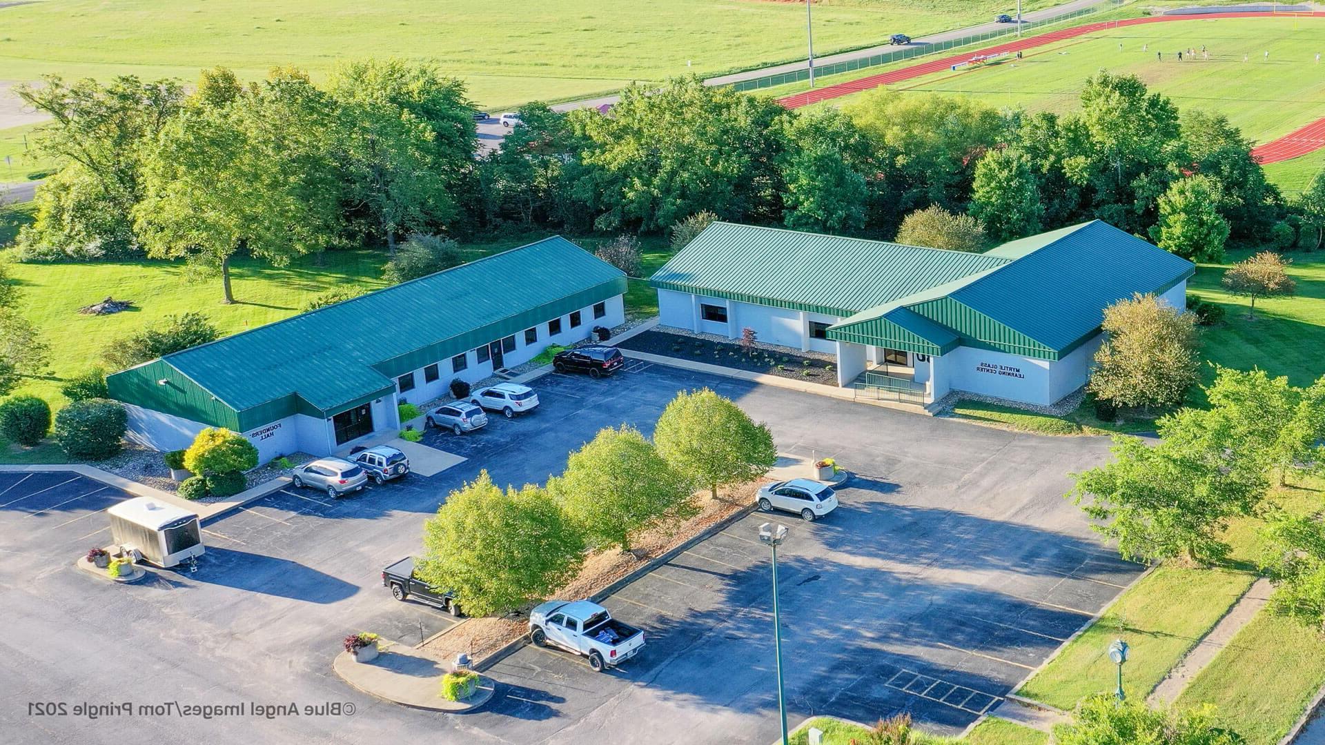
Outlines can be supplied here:
<path id="1" fill-rule="evenodd" d="M 595 672 L 615 667 L 644 648 L 643 631 L 616 620 L 607 608 L 588 601 L 539 604 L 529 612 L 529 640 L 588 658 L 588 667 Z"/>

